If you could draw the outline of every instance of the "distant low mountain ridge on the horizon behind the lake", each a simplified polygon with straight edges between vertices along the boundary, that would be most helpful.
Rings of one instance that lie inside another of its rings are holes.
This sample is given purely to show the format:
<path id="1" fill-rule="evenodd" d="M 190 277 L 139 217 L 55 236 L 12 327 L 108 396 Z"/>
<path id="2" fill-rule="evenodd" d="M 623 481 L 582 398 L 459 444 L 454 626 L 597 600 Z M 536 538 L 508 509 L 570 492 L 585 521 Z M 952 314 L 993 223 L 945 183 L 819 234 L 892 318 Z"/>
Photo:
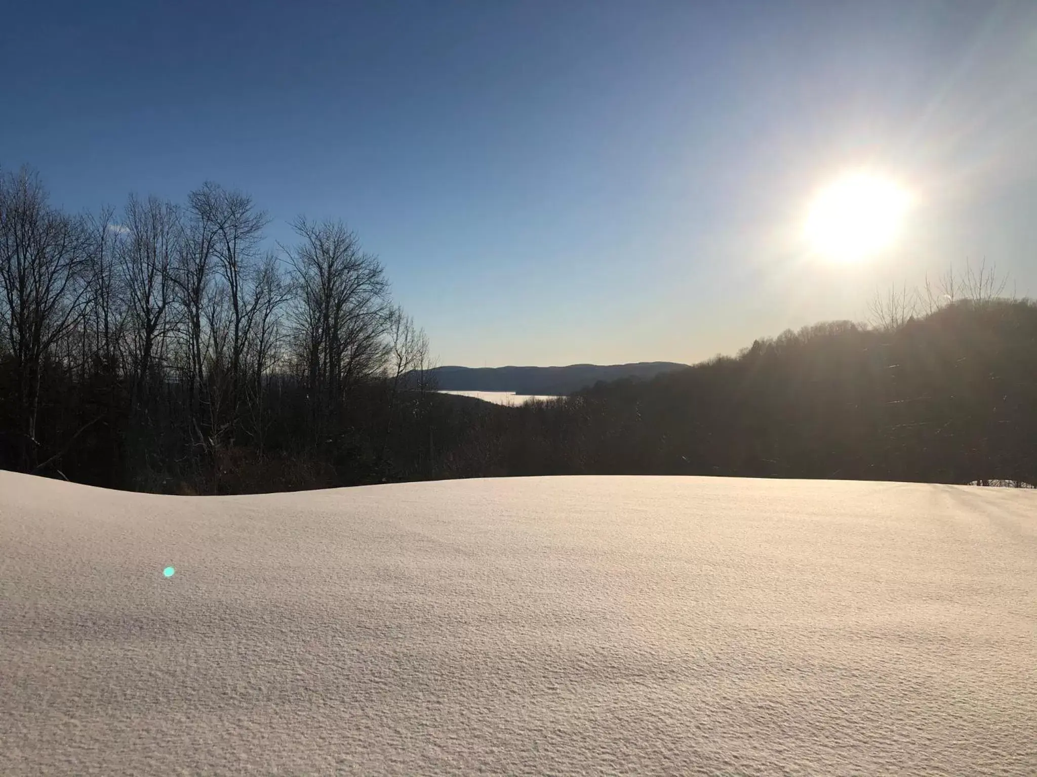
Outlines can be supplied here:
<path id="1" fill-rule="evenodd" d="M 514 392 L 563 395 L 599 380 L 648 380 L 688 365 L 676 362 L 637 362 L 628 365 L 568 365 L 567 367 L 438 367 L 432 370 L 441 391 Z"/>

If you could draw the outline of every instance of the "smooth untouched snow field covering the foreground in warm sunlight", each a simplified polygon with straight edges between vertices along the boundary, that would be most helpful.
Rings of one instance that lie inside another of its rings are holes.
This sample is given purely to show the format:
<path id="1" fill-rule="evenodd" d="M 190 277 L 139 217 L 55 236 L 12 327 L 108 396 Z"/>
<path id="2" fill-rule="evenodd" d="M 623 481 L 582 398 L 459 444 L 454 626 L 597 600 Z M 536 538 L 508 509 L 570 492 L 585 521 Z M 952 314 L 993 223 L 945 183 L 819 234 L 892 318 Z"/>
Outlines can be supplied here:
<path id="1" fill-rule="evenodd" d="M 970 487 L 0 472 L 0 774 L 1034 775 L 1035 531 Z"/>

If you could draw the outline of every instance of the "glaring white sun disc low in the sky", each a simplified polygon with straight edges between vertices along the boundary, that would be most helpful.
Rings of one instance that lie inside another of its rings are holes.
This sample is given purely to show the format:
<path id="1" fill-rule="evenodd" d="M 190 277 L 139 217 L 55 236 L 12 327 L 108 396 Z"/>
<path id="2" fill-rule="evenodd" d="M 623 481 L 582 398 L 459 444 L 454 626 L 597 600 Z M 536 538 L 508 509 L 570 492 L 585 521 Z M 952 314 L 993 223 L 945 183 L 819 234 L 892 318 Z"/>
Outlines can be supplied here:
<path id="1" fill-rule="evenodd" d="M 846 174 L 815 197 L 805 225 L 807 240 L 837 261 L 874 256 L 896 240 L 910 201 L 907 190 L 890 178 Z"/>

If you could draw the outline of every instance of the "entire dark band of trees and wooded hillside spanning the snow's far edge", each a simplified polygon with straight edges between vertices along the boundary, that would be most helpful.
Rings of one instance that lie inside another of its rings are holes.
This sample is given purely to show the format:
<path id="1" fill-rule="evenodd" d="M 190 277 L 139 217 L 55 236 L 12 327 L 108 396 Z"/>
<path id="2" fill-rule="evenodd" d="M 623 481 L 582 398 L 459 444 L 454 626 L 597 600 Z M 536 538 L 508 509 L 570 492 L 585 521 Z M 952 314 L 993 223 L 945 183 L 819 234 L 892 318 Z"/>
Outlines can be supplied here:
<path id="1" fill-rule="evenodd" d="M 758 340 L 516 408 L 435 391 L 424 334 L 341 223 L 213 183 L 69 214 L 0 175 L 0 467 L 240 493 L 433 478 L 1037 483 L 1037 306 L 980 268 L 876 325 Z"/>

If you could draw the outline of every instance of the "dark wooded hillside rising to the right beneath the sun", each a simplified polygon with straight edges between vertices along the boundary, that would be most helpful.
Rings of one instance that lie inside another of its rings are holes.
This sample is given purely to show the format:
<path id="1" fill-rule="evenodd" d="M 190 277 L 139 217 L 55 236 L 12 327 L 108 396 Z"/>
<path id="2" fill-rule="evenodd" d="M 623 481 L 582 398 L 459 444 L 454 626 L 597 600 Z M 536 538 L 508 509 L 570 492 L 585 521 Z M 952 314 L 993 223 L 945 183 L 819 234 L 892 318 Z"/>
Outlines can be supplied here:
<path id="1" fill-rule="evenodd" d="M 1037 484 L 1037 305 L 817 324 L 484 424 L 455 454 L 467 474 Z"/>

